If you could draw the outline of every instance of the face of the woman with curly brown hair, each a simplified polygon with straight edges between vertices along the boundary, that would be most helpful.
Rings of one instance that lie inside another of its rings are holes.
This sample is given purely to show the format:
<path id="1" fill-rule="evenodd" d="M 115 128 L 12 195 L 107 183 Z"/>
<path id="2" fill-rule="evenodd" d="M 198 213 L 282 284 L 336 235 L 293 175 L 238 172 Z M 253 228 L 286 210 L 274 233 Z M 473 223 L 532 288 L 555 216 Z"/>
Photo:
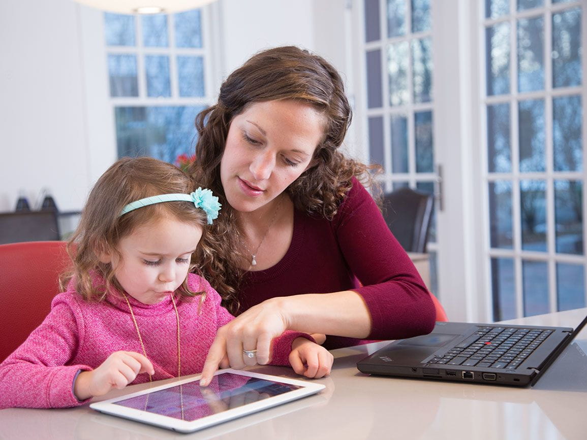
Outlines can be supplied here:
<path id="1" fill-rule="evenodd" d="M 293 100 L 249 105 L 232 119 L 220 162 L 228 203 L 252 212 L 274 200 L 312 162 L 324 117 Z"/>

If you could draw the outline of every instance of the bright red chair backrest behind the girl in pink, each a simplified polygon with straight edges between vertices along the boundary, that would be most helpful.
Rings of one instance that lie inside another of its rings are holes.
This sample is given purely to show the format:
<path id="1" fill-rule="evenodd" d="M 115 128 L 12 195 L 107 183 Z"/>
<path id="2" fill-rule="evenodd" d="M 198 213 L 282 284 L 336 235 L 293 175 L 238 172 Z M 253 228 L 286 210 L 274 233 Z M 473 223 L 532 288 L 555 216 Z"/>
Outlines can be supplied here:
<path id="1" fill-rule="evenodd" d="M 70 265 L 65 241 L 0 245 L 0 362 L 39 326 Z"/>

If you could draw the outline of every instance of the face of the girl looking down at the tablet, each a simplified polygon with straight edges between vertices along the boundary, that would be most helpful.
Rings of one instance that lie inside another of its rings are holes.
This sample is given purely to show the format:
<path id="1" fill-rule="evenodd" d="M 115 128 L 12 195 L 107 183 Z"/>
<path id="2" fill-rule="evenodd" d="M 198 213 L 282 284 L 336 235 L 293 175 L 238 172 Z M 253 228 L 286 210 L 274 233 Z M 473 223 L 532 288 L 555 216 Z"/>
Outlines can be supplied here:
<path id="1" fill-rule="evenodd" d="M 140 226 L 122 238 L 120 261 L 112 262 L 114 275 L 124 291 L 137 301 L 155 304 L 183 283 L 190 268 L 202 228 L 163 217 Z"/>

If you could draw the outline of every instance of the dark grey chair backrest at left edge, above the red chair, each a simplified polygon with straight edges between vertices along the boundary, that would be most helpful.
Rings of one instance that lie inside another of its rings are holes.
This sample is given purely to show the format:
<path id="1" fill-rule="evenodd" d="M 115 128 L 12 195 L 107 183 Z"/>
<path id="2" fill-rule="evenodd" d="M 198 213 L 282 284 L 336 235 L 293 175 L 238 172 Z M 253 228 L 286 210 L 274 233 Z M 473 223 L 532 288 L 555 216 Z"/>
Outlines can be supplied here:
<path id="1" fill-rule="evenodd" d="M 0 213 L 0 244 L 59 238 L 56 210 Z"/>

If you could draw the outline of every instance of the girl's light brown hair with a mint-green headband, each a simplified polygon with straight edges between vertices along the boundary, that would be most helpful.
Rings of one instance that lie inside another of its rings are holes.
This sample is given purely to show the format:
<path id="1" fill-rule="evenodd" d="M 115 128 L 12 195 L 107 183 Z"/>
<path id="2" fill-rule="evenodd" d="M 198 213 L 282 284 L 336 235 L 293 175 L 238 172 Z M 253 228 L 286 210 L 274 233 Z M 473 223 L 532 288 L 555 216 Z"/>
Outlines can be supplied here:
<path id="1" fill-rule="evenodd" d="M 126 204 L 135 200 L 161 194 L 189 194 L 195 187 L 190 176 L 167 162 L 146 157 L 116 161 L 98 179 L 87 198 L 79 226 L 68 242 L 73 267 L 60 277 L 61 288 L 65 289 L 73 279 L 76 291 L 87 301 L 103 299 L 112 288 L 122 292 L 122 286 L 114 277 L 112 264 L 100 262 L 100 255 L 114 254 L 120 258 L 117 245 L 121 238 L 133 233 L 137 227 L 161 218 L 198 225 L 204 237 L 207 233 L 206 214 L 190 202 L 156 203 L 119 215 Z M 200 243 L 195 254 L 202 251 L 203 243 Z M 190 271 L 198 269 L 194 264 L 197 261 L 195 254 Z M 104 280 L 102 285 L 96 285 L 96 275 Z M 178 292 L 184 297 L 203 293 L 191 292 L 187 278 Z"/>

